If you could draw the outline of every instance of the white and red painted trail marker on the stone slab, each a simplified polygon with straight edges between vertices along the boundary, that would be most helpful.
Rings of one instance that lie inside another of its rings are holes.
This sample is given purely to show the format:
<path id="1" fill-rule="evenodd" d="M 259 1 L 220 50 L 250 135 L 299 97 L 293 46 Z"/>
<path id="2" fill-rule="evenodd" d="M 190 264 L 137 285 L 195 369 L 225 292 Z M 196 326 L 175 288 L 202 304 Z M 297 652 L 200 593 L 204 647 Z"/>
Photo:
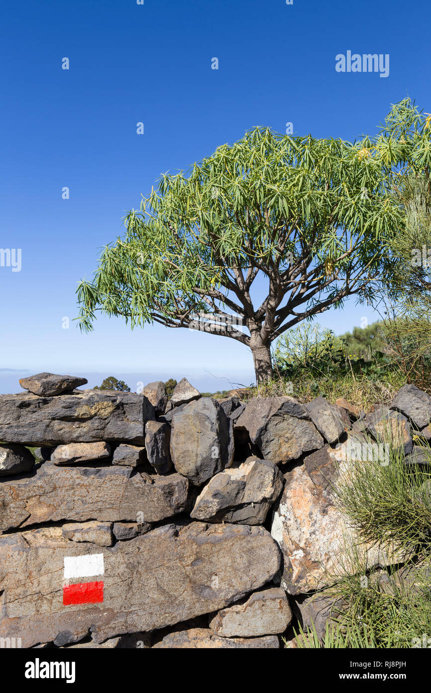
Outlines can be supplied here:
<path id="1" fill-rule="evenodd" d="M 100 577 L 104 574 L 103 554 L 64 556 L 63 605 L 100 604 L 103 602 L 103 580 L 69 584 L 78 577 Z"/>

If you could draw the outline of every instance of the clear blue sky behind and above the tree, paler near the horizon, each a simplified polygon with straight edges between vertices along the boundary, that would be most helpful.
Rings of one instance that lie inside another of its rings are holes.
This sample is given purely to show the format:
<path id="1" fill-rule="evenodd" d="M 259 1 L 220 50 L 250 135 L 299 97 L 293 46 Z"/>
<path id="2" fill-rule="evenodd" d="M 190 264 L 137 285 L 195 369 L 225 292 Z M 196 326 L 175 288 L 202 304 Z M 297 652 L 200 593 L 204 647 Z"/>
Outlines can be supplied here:
<path id="1" fill-rule="evenodd" d="M 161 172 L 255 125 L 353 140 L 407 94 L 431 112 L 430 19 L 428 0 L 2 0 L 0 247 L 21 248 L 21 271 L 0 267 L 0 392 L 42 370 L 251 383 L 234 340 L 106 318 L 82 335 L 77 281 Z M 336 72 L 348 50 L 389 54 L 389 76 Z M 319 322 L 342 333 L 362 317 L 376 315 L 352 299 Z"/>

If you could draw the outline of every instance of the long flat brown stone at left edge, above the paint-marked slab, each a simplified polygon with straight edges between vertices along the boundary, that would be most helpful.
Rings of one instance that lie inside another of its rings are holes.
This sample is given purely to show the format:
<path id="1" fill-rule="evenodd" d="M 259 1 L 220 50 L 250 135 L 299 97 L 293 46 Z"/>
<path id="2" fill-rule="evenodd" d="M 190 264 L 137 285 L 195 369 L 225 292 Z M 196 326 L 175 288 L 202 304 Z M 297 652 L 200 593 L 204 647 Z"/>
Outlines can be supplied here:
<path id="1" fill-rule="evenodd" d="M 158 522 L 184 511 L 188 482 L 179 474 L 145 483 L 130 467 L 57 467 L 45 462 L 24 479 L 0 484 L 0 530 L 47 522 Z"/>

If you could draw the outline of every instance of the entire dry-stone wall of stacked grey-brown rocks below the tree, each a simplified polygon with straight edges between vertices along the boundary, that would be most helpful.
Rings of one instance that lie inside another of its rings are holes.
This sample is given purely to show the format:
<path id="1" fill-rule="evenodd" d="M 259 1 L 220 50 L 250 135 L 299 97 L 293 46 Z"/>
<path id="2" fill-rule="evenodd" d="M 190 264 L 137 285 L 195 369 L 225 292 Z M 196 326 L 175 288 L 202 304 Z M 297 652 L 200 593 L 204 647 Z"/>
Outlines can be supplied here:
<path id="1" fill-rule="evenodd" d="M 401 392 L 365 416 L 217 401 L 185 378 L 169 401 L 161 382 L 86 382 L 44 373 L 0 396 L 0 637 L 23 647 L 278 648 L 340 553 L 328 477 L 352 423 L 378 437 L 390 420 L 415 464 L 411 423 L 426 437 L 431 421 L 410 390 L 408 411 Z"/>

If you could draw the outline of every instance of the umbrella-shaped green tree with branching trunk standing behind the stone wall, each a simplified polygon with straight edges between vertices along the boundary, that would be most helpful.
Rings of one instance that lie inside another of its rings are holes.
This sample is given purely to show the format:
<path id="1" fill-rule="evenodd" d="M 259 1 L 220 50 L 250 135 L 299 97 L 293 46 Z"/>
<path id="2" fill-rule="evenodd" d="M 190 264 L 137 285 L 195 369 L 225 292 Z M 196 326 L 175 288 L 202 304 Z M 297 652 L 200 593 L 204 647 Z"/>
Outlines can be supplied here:
<path id="1" fill-rule="evenodd" d="M 400 216 L 391 164 L 373 144 L 256 128 L 187 174 L 163 175 L 93 281 L 80 282 L 81 328 L 101 310 L 132 328 L 230 337 L 250 347 L 257 382 L 268 380 L 279 335 L 348 296 L 373 298 Z"/>

